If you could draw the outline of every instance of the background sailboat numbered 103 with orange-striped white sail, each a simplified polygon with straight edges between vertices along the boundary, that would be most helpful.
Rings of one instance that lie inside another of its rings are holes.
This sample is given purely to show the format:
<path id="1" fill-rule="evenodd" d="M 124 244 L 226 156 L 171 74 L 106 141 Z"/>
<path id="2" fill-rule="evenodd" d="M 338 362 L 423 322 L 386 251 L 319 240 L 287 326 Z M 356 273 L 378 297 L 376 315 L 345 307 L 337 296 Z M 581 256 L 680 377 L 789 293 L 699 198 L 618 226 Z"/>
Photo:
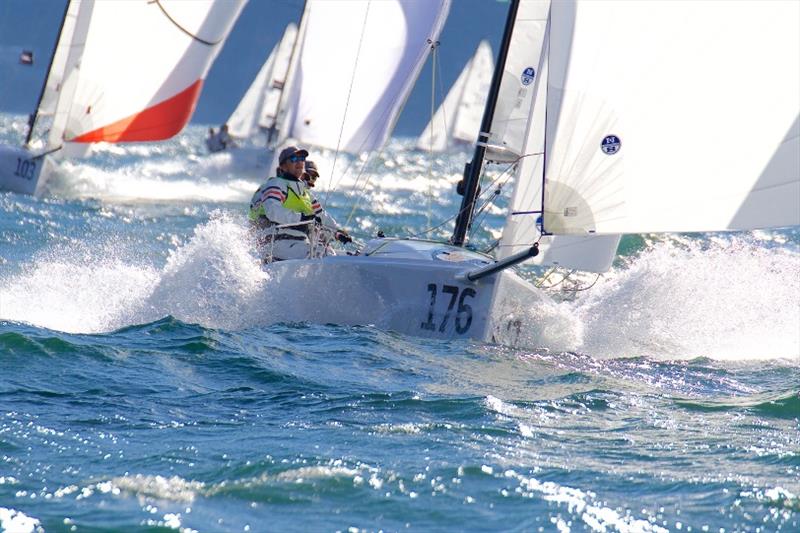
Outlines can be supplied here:
<path id="1" fill-rule="evenodd" d="M 244 4 L 70 0 L 24 146 L 0 146 L 0 190 L 41 192 L 49 154 L 177 134 Z M 34 149 L 45 117 L 46 141 Z"/>

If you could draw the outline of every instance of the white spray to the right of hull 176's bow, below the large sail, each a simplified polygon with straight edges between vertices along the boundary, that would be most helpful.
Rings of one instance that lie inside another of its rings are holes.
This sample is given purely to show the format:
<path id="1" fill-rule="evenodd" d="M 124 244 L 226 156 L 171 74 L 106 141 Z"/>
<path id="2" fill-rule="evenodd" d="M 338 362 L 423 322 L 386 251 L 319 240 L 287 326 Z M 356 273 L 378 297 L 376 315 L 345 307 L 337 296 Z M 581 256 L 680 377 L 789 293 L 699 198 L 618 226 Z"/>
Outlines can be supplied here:
<path id="1" fill-rule="evenodd" d="M 752 238 L 652 243 L 575 302 L 593 356 L 800 357 L 800 253 Z"/>

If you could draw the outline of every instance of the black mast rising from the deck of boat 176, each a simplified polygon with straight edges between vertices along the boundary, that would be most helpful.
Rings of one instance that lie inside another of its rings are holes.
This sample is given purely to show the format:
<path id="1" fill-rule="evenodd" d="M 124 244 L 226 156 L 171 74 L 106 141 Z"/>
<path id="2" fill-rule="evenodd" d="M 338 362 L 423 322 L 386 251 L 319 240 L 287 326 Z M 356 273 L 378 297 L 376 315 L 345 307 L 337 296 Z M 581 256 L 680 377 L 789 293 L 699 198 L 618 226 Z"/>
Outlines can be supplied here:
<path id="1" fill-rule="evenodd" d="M 500 82 L 503 79 L 503 71 L 506 67 L 506 56 L 511 43 L 511 36 L 514 33 L 514 22 L 517 19 L 517 9 L 519 0 L 511 0 L 508 8 L 508 18 L 506 27 L 503 31 L 503 41 L 500 44 L 500 53 L 497 65 L 492 75 L 492 85 L 489 88 L 489 96 L 486 99 L 486 108 L 483 111 L 481 130 L 478 133 L 478 142 L 475 143 L 475 152 L 472 161 L 467 163 L 464 169 L 464 198 L 461 200 L 461 208 L 456 217 L 456 227 L 453 230 L 451 242 L 456 246 L 463 246 L 466 239 L 467 230 L 472 221 L 472 212 L 475 208 L 475 197 L 478 193 L 478 182 L 480 181 L 481 168 L 483 167 L 483 157 L 486 153 L 486 143 L 489 141 L 489 129 L 492 127 L 494 109 L 497 104 L 497 95 L 500 93 Z"/>

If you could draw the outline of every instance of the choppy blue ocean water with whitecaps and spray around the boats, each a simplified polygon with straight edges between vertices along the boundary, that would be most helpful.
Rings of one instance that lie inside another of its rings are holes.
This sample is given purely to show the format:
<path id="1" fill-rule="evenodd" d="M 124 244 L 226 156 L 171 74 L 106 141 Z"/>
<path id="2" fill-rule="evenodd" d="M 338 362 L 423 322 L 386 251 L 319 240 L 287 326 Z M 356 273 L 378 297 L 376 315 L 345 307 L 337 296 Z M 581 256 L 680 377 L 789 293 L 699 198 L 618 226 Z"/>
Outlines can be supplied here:
<path id="1" fill-rule="evenodd" d="M 204 132 L 0 193 L 0 529 L 800 531 L 800 228 L 626 236 L 517 346 L 286 323 L 245 220 L 269 157 Z M 357 239 L 449 235 L 467 154 L 410 142 L 315 154 Z"/>

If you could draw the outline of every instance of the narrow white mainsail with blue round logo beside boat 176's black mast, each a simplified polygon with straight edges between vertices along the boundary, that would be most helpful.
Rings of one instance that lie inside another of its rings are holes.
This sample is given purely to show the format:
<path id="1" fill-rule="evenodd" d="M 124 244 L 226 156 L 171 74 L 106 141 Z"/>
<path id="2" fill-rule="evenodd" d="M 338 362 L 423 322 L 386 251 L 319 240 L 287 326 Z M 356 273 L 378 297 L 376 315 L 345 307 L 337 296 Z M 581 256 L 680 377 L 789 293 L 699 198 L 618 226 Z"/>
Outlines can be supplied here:
<path id="1" fill-rule="evenodd" d="M 549 11 L 550 0 L 519 4 L 490 129 L 489 161 L 515 161 L 523 153 Z"/>

